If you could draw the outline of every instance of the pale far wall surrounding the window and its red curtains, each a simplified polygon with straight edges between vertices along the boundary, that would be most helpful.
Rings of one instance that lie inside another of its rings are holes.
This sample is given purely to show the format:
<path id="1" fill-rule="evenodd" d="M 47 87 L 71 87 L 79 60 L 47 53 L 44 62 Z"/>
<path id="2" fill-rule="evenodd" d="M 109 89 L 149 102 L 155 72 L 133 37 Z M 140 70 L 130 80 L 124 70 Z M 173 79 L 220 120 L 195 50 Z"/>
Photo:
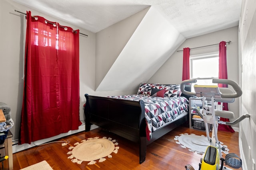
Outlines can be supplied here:
<path id="1" fill-rule="evenodd" d="M 228 79 L 238 82 L 238 27 L 232 27 L 214 33 L 201 35 L 186 39 L 186 41 L 177 49 L 182 50 L 185 47 L 195 48 L 206 45 L 218 44 L 220 41 L 232 41 L 227 43 L 227 69 Z M 183 52 L 175 52 L 164 65 L 150 78 L 148 82 L 160 84 L 180 84 L 182 82 L 182 61 Z M 191 49 L 190 55 L 210 53 L 219 51 L 219 45 Z M 202 70 L 203 71 L 203 70 Z M 238 118 L 238 99 L 234 103 L 228 104 L 229 110 L 233 111 Z M 230 121 L 233 121 L 230 119 Z M 238 125 L 234 125 L 238 127 Z"/>

